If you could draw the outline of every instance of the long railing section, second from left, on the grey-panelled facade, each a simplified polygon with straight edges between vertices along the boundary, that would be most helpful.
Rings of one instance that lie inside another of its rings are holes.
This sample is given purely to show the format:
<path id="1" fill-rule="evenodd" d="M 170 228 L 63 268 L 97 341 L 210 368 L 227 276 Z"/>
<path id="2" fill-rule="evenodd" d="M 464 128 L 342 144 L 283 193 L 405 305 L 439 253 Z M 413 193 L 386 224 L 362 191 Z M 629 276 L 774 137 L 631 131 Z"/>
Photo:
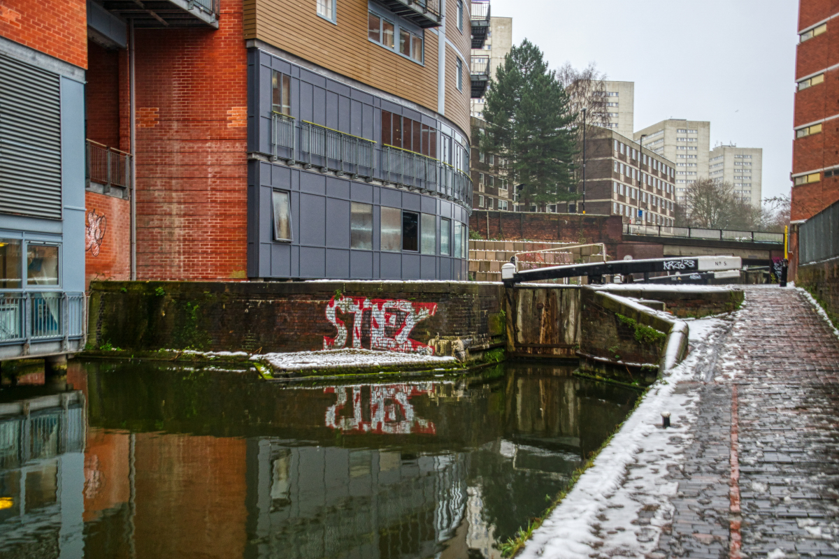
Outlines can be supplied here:
<path id="1" fill-rule="evenodd" d="M 308 165 L 369 176 L 373 172 L 375 145 L 373 140 L 339 132 L 314 122 L 303 121 L 300 126 L 300 151 L 307 154 L 304 161 Z M 319 158 L 319 161 L 315 161 L 313 156 Z"/>

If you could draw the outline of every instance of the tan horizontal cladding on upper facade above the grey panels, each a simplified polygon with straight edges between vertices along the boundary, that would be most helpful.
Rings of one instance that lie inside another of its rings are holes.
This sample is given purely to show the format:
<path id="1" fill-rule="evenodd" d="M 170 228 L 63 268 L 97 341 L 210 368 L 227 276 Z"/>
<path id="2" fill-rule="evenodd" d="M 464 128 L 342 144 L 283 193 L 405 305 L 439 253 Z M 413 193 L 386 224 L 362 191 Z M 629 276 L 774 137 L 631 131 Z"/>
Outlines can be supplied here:
<path id="1" fill-rule="evenodd" d="M 436 111 L 437 35 L 426 30 L 425 66 L 418 65 L 367 39 L 367 0 L 337 4 L 338 24 L 335 25 L 317 15 L 314 0 L 246 0 L 245 39 L 262 40 Z M 466 122 L 464 130 L 467 131 L 468 102 L 458 124 L 461 121 Z"/>

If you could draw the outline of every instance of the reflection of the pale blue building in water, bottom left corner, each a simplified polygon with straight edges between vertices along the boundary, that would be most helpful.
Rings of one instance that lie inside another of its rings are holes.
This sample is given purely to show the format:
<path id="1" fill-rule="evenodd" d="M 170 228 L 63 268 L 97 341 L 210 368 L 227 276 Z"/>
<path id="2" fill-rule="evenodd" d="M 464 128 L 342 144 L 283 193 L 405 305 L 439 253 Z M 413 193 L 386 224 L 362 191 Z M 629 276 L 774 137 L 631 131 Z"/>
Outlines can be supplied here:
<path id="1" fill-rule="evenodd" d="M 81 391 L 0 404 L 0 551 L 80 557 Z"/>

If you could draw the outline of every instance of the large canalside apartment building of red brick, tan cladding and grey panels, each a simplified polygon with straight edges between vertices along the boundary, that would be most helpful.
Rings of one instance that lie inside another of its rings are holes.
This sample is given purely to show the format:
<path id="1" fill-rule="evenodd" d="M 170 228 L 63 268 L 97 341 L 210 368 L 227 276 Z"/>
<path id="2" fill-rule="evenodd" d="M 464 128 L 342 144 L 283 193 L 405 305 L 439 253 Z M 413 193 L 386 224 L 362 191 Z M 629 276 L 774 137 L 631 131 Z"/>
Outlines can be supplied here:
<path id="1" fill-rule="evenodd" d="M 62 39 L 44 39 L 47 56 L 29 35 L 49 10 L 32 3 L 3 12 L 0 40 L 24 70 L 44 61 L 55 102 L 78 90 L 69 108 L 39 107 L 55 134 L 78 135 L 61 144 L 60 185 L 81 194 L 65 189 L 64 208 L 19 195 L 0 213 L 11 226 L 21 218 L 6 212 L 52 212 L 66 225 L 42 232 L 57 242 L 78 230 L 58 258 L 75 262 L 59 273 L 80 275 L 79 290 L 85 269 L 87 281 L 466 278 L 470 100 L 487 79 L 472 80 L 470 53 L 487 2 L 48 3 Z"/>

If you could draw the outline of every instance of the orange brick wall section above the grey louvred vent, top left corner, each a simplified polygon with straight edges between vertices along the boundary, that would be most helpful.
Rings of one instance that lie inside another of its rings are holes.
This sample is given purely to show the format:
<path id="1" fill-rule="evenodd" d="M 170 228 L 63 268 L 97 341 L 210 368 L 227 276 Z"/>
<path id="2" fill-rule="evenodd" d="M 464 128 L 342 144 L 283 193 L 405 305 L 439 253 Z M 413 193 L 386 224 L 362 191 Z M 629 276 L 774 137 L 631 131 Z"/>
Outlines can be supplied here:
<path id="1" fill-rule="evenodd" d="M 0 37 L 86 68 L 86 2 L 0 0 Z"/>

